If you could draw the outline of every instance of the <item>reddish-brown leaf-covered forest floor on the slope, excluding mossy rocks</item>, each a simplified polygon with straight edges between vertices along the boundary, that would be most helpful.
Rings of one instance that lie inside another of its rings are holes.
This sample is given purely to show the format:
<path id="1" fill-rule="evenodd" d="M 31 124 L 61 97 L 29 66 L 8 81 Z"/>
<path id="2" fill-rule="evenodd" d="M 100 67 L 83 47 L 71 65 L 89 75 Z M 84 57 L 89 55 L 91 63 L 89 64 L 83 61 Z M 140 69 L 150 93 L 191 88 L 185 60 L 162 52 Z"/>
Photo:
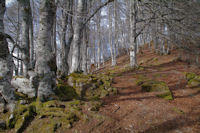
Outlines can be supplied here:
<path id="1" fill-rule="evenodd" d="M 159 56 L 149 50 L 138 55 L 138 70 L 128 68 L 128 55 L 110 61 L 96 73 L 111 72 L 116 96 L 103 99 L 98 115 L 88 122 L 78 122 L 68 132 L 74 133 L 200 133 L 200 89 L 187 87 L 184 72 L 200 74 L 199 68 L 178 61 L 178 52 Z M 126 71 L 124 71 L 126 69 Z M 138 76 L 164 81 L 173 100 L 158 98 L 155 92 L 142 92 Z M 87 111 L 86 111 L 87 112 Z M 91 115 L 91 114 L 90 114 Z"/>

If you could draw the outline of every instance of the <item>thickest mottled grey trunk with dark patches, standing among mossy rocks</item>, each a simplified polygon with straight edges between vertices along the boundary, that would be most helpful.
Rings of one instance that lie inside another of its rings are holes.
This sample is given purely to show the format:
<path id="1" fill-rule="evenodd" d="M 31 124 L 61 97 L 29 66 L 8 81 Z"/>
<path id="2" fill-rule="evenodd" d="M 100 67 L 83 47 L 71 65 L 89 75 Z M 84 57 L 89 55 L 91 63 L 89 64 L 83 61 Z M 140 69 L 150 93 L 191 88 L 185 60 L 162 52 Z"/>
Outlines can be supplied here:
<path id="1" fill-rule="evenodd" d="M 36 45 L 35 72 L 39 77 L 37 96 L 41 101 L 51 98 L 56 88 L 56 56 L 51 46 L 53 18 L 55 17 L 54 0 L 40 1 L 40 30 Z"/>

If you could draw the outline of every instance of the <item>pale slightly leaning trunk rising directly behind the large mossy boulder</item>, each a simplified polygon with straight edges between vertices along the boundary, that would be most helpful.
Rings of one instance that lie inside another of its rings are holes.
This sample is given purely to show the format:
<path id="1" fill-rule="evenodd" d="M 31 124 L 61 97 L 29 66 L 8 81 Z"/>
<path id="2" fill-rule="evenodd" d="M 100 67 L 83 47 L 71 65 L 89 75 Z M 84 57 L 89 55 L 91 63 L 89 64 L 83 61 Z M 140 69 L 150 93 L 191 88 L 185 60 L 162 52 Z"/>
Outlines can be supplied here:
<path id="1" fill-rule="evenodd" d="M 82 13 L 84 12 L 84 5 L 86 0 L 78 0 L 77 7 L 77 22 L 74 29 L 73 45 L 72 45 L 72 64 L 70 68 L 70 73 L 80 71 L 81 61 L 80 61 L 80 47 L 82 40 L 82 31 L 83 31 L 83 17 Z"/>

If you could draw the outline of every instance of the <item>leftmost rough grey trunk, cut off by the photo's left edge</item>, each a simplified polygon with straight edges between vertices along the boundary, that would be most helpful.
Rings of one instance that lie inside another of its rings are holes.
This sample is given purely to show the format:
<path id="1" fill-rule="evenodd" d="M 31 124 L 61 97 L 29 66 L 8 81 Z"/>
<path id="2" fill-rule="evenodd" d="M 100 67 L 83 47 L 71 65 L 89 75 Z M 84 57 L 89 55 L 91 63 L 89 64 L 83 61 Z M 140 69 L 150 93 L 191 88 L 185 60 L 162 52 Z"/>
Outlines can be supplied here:
<path id="1" fill-rule="evenodd" d="M 10 81 L 13 75 L 13 60 L 9 53 L 8 43 L 4 33 L 5 0 L 0 0 L 0 112 L 6 107 L 12 111 L 14 106 L 14 89 Z"/>

